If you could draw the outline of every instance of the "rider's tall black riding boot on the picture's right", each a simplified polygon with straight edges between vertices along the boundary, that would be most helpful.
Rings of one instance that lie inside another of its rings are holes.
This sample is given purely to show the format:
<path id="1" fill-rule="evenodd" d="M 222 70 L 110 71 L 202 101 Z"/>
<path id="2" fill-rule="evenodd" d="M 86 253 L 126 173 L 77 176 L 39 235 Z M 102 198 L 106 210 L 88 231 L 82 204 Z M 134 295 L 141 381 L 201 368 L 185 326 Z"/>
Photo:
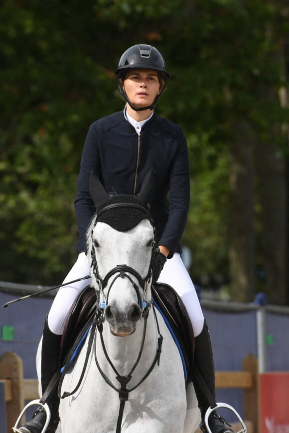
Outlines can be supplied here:
<path id="1" fill-rule="evenodd" d="M 195 337 L 194 364 L 197 367 L 200 375 L 204 379 L 211 396 L 215 400 L 215 368 L 210 334 L 206 322 L 204 322 L 202 332 L 197 337 Z M 210 404 L 208 402 L 208 399 L 206 398 L 204 389 L 197 380 L 194 372 L 192 374 L 192 381 L 198 399 L 198 405 L 201 411 L 202 430 L 203 432 L 206 432 L 204 419 L 206 411 L 209 408 Z M 226 421 L 221 418 L 216 411 L 213 412 L 209 417 L 209 427 L 212 433 L 233 432 L 233 430 L 230 429 L 231 426 L 227 424 Z"/>

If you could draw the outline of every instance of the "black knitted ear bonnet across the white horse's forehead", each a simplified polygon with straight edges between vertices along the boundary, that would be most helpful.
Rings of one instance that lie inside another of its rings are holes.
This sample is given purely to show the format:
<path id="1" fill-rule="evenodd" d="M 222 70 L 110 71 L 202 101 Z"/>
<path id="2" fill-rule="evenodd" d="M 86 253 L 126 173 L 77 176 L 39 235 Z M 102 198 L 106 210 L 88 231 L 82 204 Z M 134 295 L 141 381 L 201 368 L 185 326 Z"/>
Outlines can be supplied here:
<path id="1" fill-rule="evenodd" d="M 127 194 L 113 196 L 107 203 L 97 208 L 96 215 L 106 206 L 115 203 L 124 203 L 124 206 L 106 210 L 99 216 L 98 221 L 109 224 L 115 230 L 128 231 L 138 225 L 144 218 L 147 218 L 145 210 L 149 211 L 149 206 L 145 206 L 137 197 Z M 126 203 L 139 205 L 144 208 L 144 211 L 140 208 L 126 207 Z"/>

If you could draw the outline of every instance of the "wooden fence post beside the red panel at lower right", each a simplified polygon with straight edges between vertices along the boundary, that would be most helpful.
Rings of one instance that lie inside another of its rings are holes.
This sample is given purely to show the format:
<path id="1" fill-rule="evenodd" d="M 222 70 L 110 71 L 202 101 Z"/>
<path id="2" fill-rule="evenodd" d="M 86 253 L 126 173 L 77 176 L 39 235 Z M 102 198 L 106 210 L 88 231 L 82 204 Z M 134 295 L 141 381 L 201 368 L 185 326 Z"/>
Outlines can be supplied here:
<path id="1" fill-rule="evenodd" d="M 259 373 L 258 359 L 249 354 L 243 359 L 242 367 L 252 375 L 252 386 L 244 389 L 244 419 L 253 421 L 254 433 L 259 433 Z"/>

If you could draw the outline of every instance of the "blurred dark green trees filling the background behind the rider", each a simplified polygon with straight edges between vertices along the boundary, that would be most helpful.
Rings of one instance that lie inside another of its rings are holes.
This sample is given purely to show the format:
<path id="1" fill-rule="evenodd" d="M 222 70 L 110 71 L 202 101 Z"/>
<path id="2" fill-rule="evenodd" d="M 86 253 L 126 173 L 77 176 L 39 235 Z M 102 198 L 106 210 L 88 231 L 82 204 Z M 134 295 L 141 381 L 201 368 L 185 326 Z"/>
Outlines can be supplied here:
<path id="1" fill-rule="evenodd" d="M 288 304 L 286 0 L 3 0 L 0 280 L 60 284 L 75 261 L 83 143 L 123 109 L 114 70 L 136 43 L 164 55 L 156 112 L 188 141 L 193 281 Z"/>

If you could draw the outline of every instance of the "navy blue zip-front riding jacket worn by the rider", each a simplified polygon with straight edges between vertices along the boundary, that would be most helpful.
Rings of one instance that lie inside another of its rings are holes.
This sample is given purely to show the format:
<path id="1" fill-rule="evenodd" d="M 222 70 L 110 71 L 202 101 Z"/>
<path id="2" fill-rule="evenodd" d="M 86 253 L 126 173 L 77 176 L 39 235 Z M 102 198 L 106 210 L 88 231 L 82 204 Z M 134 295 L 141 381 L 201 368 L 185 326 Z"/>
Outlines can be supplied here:
<path id="1" fill-rule="evenodd" d="M 91 171 L 108 194 L 136 195 L 152 167 L 155 191 L 150 213 L 156 242 L 170 249 L 169 257 L 175 251 L 180 252 L 190 200 L 188 150 L 183 131 L 153 114 L 138 134 L 123 111 L 92 123 L 85 140 L 74 202 L 79 251 L 86 250 L 86 231 L 95 214 L 89 193 Z"/>

